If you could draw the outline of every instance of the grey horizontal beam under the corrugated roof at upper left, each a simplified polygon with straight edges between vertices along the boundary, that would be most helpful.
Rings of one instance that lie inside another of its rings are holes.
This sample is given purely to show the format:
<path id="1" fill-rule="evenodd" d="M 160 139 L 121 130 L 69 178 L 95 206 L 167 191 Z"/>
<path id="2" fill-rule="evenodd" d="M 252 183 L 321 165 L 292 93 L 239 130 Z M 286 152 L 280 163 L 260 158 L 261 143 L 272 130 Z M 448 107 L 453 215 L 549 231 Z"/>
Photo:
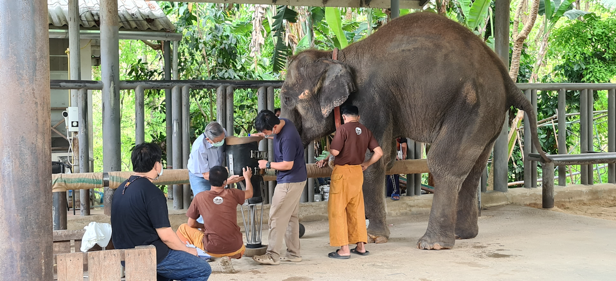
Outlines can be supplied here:
<path id="1" fill-rule="evenodd" d="M 161 41 L 180 41 L 182 33 L 161 32 L 161 31 L 119 31 L 118 37 L 121 40 L 161 40 Z M 65 39 L 68 38 L 68 30 L 49 30 L 49 38 Z M 99 30 L 80 30 L 81 39 L 100 39 Z"/>

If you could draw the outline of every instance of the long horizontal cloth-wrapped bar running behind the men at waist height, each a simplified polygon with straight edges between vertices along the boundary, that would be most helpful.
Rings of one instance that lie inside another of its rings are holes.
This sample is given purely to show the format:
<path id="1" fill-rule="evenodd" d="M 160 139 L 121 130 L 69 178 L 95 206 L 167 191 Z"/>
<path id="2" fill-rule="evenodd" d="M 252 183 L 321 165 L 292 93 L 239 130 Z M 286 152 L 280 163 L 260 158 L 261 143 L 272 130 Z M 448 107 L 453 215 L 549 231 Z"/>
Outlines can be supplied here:
<path id="1" fill-rule="evenodd" d="M 156 185 L 188 184 L 188 169 L 169 169 L 158 180 L 153 181 Z M 309 178 L 326 178 L 331 176 L 329 166 L 318 168 L 317 164 L 306 164 L 306 172 Z M 426 159 L 399 160 L 387 170 L 387 175 L 399 173 L 428 173 Z M 62 192 L 71 189 L 93 189 L 108 186 L 118 188 L 133 172 L 103 172 L 103 173 L 56 173 L 52 175 L 52 192 Z M 108 179 L 108 180 L 105 180 Z M 265 181 L 275 181 L 276 176 L 272 170 L 263 176 Z"/>

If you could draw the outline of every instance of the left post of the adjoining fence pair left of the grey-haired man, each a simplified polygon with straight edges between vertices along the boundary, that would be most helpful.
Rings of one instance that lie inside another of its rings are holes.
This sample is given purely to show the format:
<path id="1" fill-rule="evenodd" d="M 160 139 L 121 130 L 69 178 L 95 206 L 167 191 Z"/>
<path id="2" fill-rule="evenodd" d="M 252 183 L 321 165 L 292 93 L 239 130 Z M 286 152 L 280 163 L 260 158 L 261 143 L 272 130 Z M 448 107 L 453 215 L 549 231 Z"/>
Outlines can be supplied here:
<path id="1" fill-rule="evenodd" d="M 182 95 L 180 86 L 171 89 L 171 113 L 172 113 L 172 165 L 174 169 L 182 167 Z M 181 184 L 173 185 L 173 208 L 179 210 L 184 208 L 183 189 Z"/>

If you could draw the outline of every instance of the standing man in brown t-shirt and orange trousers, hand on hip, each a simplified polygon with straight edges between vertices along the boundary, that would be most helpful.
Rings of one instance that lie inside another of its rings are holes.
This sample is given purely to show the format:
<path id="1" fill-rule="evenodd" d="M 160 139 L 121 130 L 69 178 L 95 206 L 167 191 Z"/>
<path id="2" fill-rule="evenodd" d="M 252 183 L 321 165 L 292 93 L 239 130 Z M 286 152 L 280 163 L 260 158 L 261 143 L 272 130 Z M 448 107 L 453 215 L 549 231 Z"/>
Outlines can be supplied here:
<path id="1" fill-rule="evenodd" d="M 363 206 L 363 171 L 383 156 L 383 149 L 372 132 L 359 122 L 357 106 L 342 108 L 344 125 L 336 129 L 330 153 L 334 159 L 331 173 L 327 215 L 330 220 L 330 245 L 341 247 L 329 253 L 330 258 L 347 259 L 351 253 L 368 255 L 365 210 Z M 366 150 L 373 152 L 365 161 Z M 349 250 L 349 243 L 357 244 Z"/>

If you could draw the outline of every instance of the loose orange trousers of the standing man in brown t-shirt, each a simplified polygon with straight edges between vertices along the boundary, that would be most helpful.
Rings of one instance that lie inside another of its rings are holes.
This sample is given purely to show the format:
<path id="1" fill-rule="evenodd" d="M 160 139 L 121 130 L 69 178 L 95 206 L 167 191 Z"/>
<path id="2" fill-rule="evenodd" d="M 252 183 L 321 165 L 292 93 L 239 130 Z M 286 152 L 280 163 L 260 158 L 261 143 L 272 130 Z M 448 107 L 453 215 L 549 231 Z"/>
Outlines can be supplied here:
<path id="1" fill-rule="evenodd" d="M 368 242 L 362 186 L 362 166 L 334 166 L 327 203 L 330 245 L 333 247 Z"/>

